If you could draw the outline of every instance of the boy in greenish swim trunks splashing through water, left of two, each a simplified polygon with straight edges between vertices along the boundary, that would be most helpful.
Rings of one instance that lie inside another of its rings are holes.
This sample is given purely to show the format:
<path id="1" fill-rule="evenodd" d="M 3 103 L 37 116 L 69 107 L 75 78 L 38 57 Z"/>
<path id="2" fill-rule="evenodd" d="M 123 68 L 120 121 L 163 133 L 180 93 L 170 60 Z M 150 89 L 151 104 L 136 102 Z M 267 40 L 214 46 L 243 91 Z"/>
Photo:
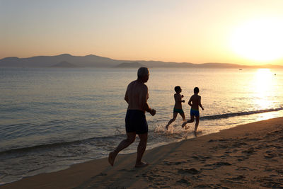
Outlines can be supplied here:
<path id="1" fill-rule="evenodd" d="M 175 105 L 174 105 L 174 110 L 173 110 L 173 118 L 166 125 L 166 130 L 168 130 L 169 125 L 173 121 L 175 121 L 178 113 L 180 113 L 180 115 L 182 116 L 183 122 L 185 121 L 185 113 L 184 113 L 183 108 L 182 108 L 182 103 L 185 103 L 185 100 L 182 101 L 182 98 L 184 96 L 180 95 L 180 93 L 182 92 L 182 88 L 180 88 L 180 86 L 175 86 L 174 90 L 175 90 L 176 93 L 174 94 Z M 187 127 L 186 127 L 186 129 L 187 129 Z"/>

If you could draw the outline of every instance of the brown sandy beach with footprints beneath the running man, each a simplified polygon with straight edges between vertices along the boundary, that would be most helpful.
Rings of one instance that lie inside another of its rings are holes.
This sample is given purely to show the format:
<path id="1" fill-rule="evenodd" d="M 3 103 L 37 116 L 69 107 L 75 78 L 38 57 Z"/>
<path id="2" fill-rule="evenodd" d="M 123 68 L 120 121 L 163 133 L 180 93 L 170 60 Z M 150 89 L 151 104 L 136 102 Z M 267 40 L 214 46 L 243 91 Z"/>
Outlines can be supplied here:
<path id="1" fill-rule="evenodd" d="M 96 159 L 0 188 L 283 188 L 283 118 L 275 118 L 147 150 Z"/>

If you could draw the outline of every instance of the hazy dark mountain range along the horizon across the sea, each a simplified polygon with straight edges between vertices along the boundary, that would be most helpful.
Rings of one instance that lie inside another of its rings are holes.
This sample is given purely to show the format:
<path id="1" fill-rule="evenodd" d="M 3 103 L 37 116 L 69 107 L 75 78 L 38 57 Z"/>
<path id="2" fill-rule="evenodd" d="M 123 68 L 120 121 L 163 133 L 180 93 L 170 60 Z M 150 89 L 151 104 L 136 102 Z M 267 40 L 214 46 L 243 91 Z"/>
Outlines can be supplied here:
<path id="1" fill-rule="evenodd" d="M 137 67 L 158 67 L 158 68 L 283 68 L 279 65 L 246 66 L 229 63 L 204 63 L 193 64 L 190 62 L 161 62 L 161 61 L 129 61 L 110 59 L 96 55 L 73 56 L 62 54 L 56 56 L 36 56 L 28 58 L 6 57 L 0 59 L 0 67 L 117 67 L 117 68 L 137 68 Z"/>

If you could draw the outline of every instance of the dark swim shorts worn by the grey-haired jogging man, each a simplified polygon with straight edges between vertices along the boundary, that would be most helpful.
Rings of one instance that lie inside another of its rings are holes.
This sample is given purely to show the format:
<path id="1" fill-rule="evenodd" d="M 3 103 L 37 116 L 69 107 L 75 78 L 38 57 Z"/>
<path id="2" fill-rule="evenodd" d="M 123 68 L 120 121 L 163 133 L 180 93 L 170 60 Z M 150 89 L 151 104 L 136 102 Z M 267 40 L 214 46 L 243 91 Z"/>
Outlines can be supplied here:
<path id="1" fill-rule="evenodd" d="M 125 122 L 126 132 L 136 132 L 137 134 L 149 132 L 146 115 L 141 110 L 127 110 Z"/>

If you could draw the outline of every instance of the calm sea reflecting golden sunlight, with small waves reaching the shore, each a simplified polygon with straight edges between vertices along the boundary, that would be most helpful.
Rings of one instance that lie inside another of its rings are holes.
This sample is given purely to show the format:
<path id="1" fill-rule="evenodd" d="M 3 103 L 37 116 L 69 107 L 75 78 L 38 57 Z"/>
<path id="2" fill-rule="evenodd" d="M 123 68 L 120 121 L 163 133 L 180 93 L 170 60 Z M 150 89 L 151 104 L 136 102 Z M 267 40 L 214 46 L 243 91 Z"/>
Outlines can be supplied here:
<path id="1" fill-rule="evenodd" d="M 283 69 L 150 68 L 146 149 L 283 116 Z M 137 69 L 0 68 L 0 184 L 107 157 L 126 138 L 124 100 Z M 196 135 L 173 118 L 174 87 L 200 88 Z M 121 154 L 137 151 L 139 138 Z"/>

